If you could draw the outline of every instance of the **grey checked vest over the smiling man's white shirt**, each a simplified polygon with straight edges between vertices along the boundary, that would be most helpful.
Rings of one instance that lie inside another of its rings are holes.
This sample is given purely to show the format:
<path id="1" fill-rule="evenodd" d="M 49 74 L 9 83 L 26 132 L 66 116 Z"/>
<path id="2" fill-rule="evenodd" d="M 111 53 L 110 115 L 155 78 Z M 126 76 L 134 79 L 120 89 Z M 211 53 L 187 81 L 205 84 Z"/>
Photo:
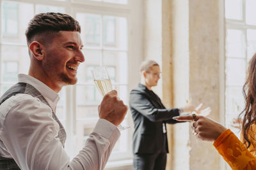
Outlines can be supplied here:
<path id="1" fill-rule="evenodd" d="M 17 83 L 15 85 L 13 85 L 13 87 L 11 87 L 9 90 L 7 90 L 3 94 L 3 96 L 0 98 L 0 104 L 2 104 L 4 101 L 6 101 L 6 99 L 8 99 L 9 97 L 12 97 L 16 94 L 29 94 L 33 97 L 38 98 L 42 103 L 47 104 L 47 106 L 49 106 L 51 108 L 51 106 L 49 105 L 49 103 L 47 103 L 47 101 L 42 96 L 42 94 L 40 94 L 40 92 L 38 92 L 38 90 L 36 90 L 35 87 L 33 87 L 32 85 L 29 85 L 28 83 Z M 67 134 L 65 132 L 63 125 L 61 124 L 60 120 L 58 120 L 58 118 L 56 117 L 56 114 L 54 113 L 53 110 L 52 110 L 52 118 L 60 125 L 60 131 L 58 132 L 58 136 L 56 138 L 60 139 L 60 142 L 61 142 L 62 146 L 64 147 L 65 140 L 67 138 Z M 0 169 L 16 170 L 16 169 L 20 169 L 20 168 L 16 164 L 15 160 L 10 159 L 10 158 L 4 158 L 4 157 L 0 156 Z"/>

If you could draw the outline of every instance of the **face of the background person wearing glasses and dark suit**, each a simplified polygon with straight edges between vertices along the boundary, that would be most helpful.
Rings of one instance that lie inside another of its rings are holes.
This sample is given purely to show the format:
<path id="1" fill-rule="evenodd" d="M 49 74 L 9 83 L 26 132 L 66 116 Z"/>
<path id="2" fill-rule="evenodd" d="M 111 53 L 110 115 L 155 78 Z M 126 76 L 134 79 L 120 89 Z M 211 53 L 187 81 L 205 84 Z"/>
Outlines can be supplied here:
<path id="1" fill-rule="evenodd" d="M 159 78 L 160 78 L 159 66 L 152 66 L 151 71 L 148 71 L 146 73 L 145 80 L 150 87 L 154 87 L 157 85 Z"/>

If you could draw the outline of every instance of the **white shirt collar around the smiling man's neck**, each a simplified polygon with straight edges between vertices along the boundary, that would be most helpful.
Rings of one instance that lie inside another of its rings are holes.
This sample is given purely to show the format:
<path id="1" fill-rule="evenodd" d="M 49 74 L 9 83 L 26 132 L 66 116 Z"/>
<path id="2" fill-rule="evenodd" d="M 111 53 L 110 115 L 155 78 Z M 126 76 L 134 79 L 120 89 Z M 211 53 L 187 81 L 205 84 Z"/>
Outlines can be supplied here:
<path id="1" fill-rule="evenodd" d="M 20 83 L 28 83 L 29 85 L 35 87 L 35 89 L 38 90 L 38 92 L 40 92 L 42 96 L 45 97 L 51 108 L 54 111 L 56 110 L 56 105 L 60 97 L 54 90 L 45 85 L 45 83 L 43 83 L 42 81 L 37 80 L 36 78 L 33 78 L 32 76 L 29 76 L 27 74 L 19 74 L 18 80 Z"/>

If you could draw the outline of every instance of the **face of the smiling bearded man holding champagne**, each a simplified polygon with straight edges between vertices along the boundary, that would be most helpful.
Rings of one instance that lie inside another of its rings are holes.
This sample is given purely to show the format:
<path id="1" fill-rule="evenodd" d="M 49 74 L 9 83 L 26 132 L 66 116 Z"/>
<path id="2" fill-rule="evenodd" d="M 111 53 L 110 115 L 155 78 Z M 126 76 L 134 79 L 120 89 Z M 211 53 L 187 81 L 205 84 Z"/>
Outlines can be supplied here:
<path id="1" fill-rule="evenodd" d="M 42 67 L 56 87 L 73 85 L 77 82 L 77 67 L 84 62 L 83 44 L 77 31 L 59 31 L 60 36 L 51 40 L 45 47 Z"/>

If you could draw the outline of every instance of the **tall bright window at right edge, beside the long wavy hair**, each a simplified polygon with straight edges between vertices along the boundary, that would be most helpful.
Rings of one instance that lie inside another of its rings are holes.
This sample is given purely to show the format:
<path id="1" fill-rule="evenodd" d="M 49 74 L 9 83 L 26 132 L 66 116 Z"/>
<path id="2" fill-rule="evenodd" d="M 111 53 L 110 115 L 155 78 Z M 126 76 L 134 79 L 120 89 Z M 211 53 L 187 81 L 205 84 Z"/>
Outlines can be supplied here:
<path id="1" fill-rule="evenodd" d="M 256 11 L 254 0 L 225 0 L 226 18 L 226 117 L 227 127 L 239 136 L 239 129 L 230 127 L 244 108 L 242 93 L 248 61 L 256 52 Z"/>

